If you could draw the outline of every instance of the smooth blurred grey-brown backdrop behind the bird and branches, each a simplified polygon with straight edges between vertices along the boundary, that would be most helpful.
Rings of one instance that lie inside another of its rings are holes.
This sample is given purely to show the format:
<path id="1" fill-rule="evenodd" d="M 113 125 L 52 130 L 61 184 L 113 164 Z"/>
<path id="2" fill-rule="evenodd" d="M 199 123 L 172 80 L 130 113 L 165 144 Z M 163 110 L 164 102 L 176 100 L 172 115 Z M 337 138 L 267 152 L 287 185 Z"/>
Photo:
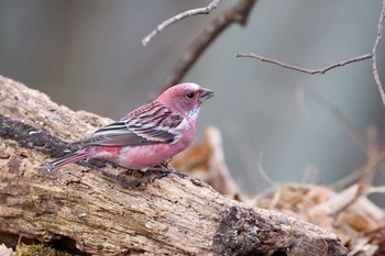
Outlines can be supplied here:
<path id="1" fill-rule="evenodd" d="M 142 38 L 162 21 L 209 2 L 0 0 L 0 75 L 74 110 L 120 119 L 162 92 L 187 46 L 235 1 L 172 25 L 145 47 Z M 202 108 L 196 142 L 206 126 L 220 129 L 229 169 L 244 191 L 270 186 L 256 168 L 262 152 L 264 170 L 276 182 L 333 183 L 364 164 L 363 152 L 324 105 L 306 96 L 306 108 L 298 103 L 300 88 L 332 102 L 363 135 L 376 125 L 380 145 L 385 109 L 371 60 L 311 76 L 235 54 L 322 68 L 372 51 L 381 8 L 381 0 L 260 0 L 246 26 L 226 30 L 183 79 L 216 91 Z M 383 84 L 384 49 L 382 43 Z"/>

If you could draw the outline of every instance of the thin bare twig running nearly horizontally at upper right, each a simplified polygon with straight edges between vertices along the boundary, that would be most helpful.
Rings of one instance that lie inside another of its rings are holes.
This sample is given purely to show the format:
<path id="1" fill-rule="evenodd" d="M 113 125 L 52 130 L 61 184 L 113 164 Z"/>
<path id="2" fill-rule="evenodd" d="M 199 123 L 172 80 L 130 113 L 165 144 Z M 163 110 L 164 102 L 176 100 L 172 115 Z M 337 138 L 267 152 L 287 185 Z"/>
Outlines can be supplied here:
<path id="1" fill-rule="evenodd" d="M 292 70 L 315 75 L 315 74 L 326 74 L 327 71 L 329 71 L 336 67 L 342 67 L 342 66 L 345 66 L 345 65 L 351 64 L 351 63 L 361 62 L 364 59 L 372 58 L 373 54 L 369 53 L 369 54 L 364 54 L 361 56 L 356 56 L 354 58 L 350 58 L 350 59 L 346 59 L 346 60 L 343 60 L 340 63 L 331 64 L 331 65 L 329 65 L 324 68 L 320 68 L 320 69 L 302 68 L 302 67 L 294 66 L 290 64 L 285 64 L 285 63 L 282 63 L 279 60 L 273 59 L 273 58 L 266 58 L 266 57 L 253 54 L 253 53 L 251 53 L 251 54 L 237 54 L 237 57 L 256 58 L 256 59 L 260 59 L 262 63 L 271 63 L 271 64 L 275 64 L 275 65 L 278 65 L 280 67 L 292 69 Z"/>

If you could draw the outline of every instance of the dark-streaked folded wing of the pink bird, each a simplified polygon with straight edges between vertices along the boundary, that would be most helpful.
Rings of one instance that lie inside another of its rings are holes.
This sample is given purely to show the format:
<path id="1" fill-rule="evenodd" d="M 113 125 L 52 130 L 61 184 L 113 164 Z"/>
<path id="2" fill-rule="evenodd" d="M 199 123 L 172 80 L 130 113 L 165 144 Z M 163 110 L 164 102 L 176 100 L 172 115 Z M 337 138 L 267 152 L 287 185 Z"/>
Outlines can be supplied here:
<path id="1" fill-rule="evenodd" d="M 184 116 L 160 103 L 143 105 L 118 122 L 95 132 L 92 137 L 74 143 L 80 146 L 138 146 L 172 143 Z"/>

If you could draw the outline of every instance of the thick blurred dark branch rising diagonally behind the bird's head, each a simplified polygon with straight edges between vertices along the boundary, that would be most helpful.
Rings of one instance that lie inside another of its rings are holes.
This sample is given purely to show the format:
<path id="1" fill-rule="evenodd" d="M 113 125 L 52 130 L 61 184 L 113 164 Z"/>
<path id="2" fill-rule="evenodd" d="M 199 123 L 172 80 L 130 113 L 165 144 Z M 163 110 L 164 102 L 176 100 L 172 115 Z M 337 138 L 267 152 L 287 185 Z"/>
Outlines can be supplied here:
<path id="1" fill-rule="evenodd" d="M 205 49 L 230 24 L 239 23 L 245 25 L 249 14 L 256 1 L 257 0 L 239 0 L 237 3 L 218 14 L 188 46 L 185 54 L 176 62 L 176 65 L 172 68 L 172 73 L 164 81 L 164 88 L 167 89 L 179 82 Z"/>

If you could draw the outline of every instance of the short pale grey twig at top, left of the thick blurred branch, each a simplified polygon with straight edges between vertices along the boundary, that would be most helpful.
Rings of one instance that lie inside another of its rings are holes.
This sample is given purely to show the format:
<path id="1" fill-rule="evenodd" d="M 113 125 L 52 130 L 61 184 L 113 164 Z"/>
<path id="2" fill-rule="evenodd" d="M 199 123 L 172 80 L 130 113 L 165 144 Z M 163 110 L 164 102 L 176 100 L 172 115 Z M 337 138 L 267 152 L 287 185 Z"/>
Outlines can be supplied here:
<path id="1" fill-rule="evenodd" d="M 193 15 L 199 15 L 199 14 L 209 14 L 213 9 L 217 9 L 218 4 L 221 2 L 222 0 L 213 0 L 212 2 L 210 2 L 209 5 L 207 7 L 204 7 L 204 8 L 197 8 L 197 9 L 193 9 L 193 10 L 188 10 L 188 11 L 185 11 L 185 12 L 180 12 L 179 14 L 162 22 L 161 24 L 158 24 L 156 26 L 155 30 L 153 30 L 147 36 L 145 36 L 143 40 L 142 40 L 142 44 L 143 46 L 146 46 L 150 41 L 155 36 L 157 35 L 158 33 L 161 33 L 161 31 L 163 31 L 164 29 L 166 29 L 167 26 L 180 21 L 180 20 L 184 20 L 188 16 L 193 16 Z"/>

